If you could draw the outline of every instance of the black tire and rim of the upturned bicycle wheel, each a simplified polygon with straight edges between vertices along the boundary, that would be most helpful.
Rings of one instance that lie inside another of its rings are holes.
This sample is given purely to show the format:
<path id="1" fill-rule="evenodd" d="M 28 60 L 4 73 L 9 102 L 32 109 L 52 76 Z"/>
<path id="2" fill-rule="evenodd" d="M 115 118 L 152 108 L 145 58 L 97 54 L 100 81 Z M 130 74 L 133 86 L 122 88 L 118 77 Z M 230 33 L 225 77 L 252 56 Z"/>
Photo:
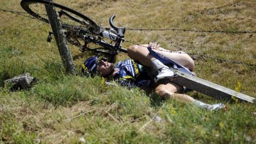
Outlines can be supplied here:
<path id="1" fill-rule="evenodd" d="M 75 11 L 74 9 L 71 9 L 71 8 L 66 7 L 64 5 L 57 4 L 57 3 L 49 1 L 49 0 L 23 0 L 23 1 L 21 1 L 20 4 L 21 4 L 21 7 L 26 12 L 28 12 L 28 14 L 32 15 L 33 17 L 36 17 L 37 19 L 39 19 L 41 21 L 44 21 L 45 23 L 49 23 L 48 18 L 44 17 L 45 15 L 47 16 L 47 13 L 39 14 L 39 12 L 35 12 L 33 9 L 31 9 L 31 7 L 30 7 L 31 5 L 33 5 L 33 4 L 43 4 L 43 6 L 44 5 L 50 5 L 50 6 L 53 6 L 55 8 L 60 8 L 60 9 L 64 10 L 65 12 L 69 12 L 70 14 L 75 15 L 76 17 L 82 18 L 82 20 L 84 20 L 83 22 L 88 23 L 88 25 L 90 27 L 98 27 L 98 25 L 94 21 L 92 21 L 90 18 L 88 18 L 84 14 L 81 14 L 80 12 Z M 40 10 L 41 9 L 39 8 L 39 11 Z M 80 19 L 78 19 L 78 20 L 80 20 Z M 77 20 L 73 20 L 73 21 L 76 21 L 76 23 L 79 23 L 79 21 L 77 21 Z M 72 24 L 69 24 L 69 25 L 72 25 Z M 64 29 L 67 28 L 66 25 L 63 24 L 63 23 L 62 23 L 62 26 L 63 26 Z M 78 26 L 78 25 L 74 25 L 74 26 Z"/>

